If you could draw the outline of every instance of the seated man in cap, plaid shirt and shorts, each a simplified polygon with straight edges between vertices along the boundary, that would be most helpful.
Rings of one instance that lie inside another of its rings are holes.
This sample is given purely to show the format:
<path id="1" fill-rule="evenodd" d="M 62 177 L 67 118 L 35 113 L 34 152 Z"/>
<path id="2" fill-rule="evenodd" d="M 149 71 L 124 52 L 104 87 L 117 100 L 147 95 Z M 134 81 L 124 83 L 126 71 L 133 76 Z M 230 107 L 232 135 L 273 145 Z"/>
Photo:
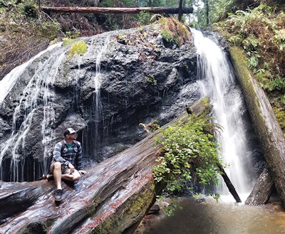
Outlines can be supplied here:
<path id="1" fill-rule="evenodd" d="M 51 161 L 51 174 L 56 184 L 55 201 L 62 201 L 61 180 L 78 181 L 81 174 L 86 171 L 81 169 L 82 148 L 81 143 L 76 141 L 76 131 L 68 128 L 63 132 L 64 139 L 56 144 Z M 48 176 L 47 176 L 48 179 Z"/>

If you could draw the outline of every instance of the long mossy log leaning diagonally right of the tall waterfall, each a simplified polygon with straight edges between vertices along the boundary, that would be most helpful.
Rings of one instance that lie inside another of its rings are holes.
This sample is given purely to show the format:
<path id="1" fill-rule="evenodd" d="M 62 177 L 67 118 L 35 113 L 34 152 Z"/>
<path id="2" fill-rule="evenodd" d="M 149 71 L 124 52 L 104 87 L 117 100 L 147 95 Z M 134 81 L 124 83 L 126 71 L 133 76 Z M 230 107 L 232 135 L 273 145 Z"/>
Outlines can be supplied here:
<path id="1" fill-rule="evenodd" d="M 254 129 L 261 142 L 264 158 L 268 165 L 269 173 L 274 181 L 279 197 L 285 207 L 285 139 L 279 123 L 274 115 L 268 98 L 257 81 L 247 68 L 246 59 L 242 51 L 237 47 L 229 50 L 232 63 L 237 73 L 237 78 L 244 91 L 245 101 L 252 117 Z M 266 176 L 263 175 L 263 176 Z M 270 178 L 266 179 L 267 187 L 270 187 Z M 257 185 L 258 186 L 258 185 Z M 255 188 L 257 193 L 252 196 L 260 196 L 261 189 Z M 264 191 L 267 193 L 268 191 Z"/>

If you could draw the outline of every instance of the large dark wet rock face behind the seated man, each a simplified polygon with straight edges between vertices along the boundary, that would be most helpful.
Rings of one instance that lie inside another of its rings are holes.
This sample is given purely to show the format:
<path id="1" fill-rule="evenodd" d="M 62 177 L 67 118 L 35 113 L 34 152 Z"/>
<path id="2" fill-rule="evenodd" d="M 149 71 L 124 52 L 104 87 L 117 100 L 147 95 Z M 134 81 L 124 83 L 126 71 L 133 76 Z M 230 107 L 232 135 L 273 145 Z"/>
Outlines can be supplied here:
<path id="1" fill-rule="evenodd" d="M 165 124 L 199 99 L 192 43 L 166 47 L 151 27 L 81 39 L 86 53 L 68 57 L 64 46 L 44 53 L 0 103 L 4 174 L 4 164 L 26 158 L 21 170 L 31 174 L 19 180 L 37 178 L 66 127 L 79 130 L 87 161 L 103 160 L 145 137 L 140 123 Z"/>

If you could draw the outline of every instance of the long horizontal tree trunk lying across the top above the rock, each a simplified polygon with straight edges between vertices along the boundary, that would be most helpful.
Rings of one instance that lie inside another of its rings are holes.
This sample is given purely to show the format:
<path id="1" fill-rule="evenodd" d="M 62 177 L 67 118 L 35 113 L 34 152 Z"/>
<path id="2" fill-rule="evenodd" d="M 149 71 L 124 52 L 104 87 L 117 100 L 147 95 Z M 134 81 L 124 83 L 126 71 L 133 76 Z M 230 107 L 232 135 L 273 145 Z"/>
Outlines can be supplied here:
<path id="1" fill-rule="evenodd" d="M 138 7 L 138 8 L 104 8 L 104 7 L 50 7 L 41 6 L 41 10 L 49 13 L 93 13 L 93 14 L 138 14 L 141 11 L 147 11 L 150 13 L 166 13 L 166 14 L 178 14 L 179 8 L 171 7 Z M 192 7 L 183 7 L 181 14 L 190 14 L 193 12 Z"/>

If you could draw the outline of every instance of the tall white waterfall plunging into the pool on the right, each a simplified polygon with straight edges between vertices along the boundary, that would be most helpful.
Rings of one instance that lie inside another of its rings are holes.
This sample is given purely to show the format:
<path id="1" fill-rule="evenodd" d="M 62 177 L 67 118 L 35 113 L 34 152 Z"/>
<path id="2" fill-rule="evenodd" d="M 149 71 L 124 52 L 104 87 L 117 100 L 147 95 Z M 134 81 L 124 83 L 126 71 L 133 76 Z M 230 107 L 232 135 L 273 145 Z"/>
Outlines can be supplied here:
<path id="1" fill-rule="evenodd" d="M 200 31 L 191 31 L 197 48 L 200 92 L 202 96 L 210 97 L 214 121 L 222 126 L 218 140 L 222 147 L 222 159 L 229 165 L 225 171 L 244 201 L 243 198 L 252 190 L 254 173 L 243 118 L 245 104 L 242 91 L 224 51 Z M 224 183 L 218 192 L 222 196 L 229 194 Z"/>

